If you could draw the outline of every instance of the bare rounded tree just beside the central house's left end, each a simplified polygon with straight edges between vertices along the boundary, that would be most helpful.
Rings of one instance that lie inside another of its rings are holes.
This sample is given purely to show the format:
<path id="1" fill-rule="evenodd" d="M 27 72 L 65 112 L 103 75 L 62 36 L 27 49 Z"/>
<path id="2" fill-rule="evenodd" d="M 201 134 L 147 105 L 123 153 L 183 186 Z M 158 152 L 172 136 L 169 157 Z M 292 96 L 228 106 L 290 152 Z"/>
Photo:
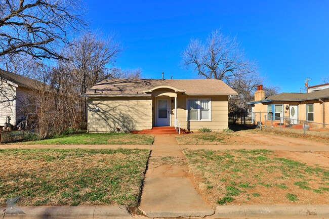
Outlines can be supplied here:
<path id="1" fill-rule="evenodd" d="M 69 70 L 72 94 L 85 94 L 98 81 L 112 77 L 111 69 L 120 51 L 114 36 L 87 33 L 74 40 L 65 51 L 68 61 L 63 61 Z M 80 115 L 87 121 L 86 100 L 80 102 Z"/>

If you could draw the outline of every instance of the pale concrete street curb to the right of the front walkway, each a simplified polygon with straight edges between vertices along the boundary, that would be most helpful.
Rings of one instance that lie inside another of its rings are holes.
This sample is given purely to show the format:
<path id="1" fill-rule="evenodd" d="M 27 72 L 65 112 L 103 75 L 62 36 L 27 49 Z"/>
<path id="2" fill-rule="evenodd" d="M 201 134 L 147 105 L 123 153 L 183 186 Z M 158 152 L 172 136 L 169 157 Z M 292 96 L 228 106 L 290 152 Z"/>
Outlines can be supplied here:
<path id="1" fill-rule="evenodd" d="M 329 205 L 221 205 L 210 218 L 329 219 Z"/>

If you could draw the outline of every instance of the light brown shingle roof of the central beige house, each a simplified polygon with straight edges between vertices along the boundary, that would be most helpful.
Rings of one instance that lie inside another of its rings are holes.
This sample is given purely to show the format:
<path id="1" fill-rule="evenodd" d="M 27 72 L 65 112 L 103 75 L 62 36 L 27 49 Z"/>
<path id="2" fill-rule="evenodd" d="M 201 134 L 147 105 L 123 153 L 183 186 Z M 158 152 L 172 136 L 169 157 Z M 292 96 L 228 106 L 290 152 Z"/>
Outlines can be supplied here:
<path id="1" fill-rule="evenodd" d="M 105 79 L 83 96 L 145 95 L 143 91 L 156 86 L 173 86 L 185 90 L 187 95 L 237 95 L 231 87 L 217 79 Z"/>

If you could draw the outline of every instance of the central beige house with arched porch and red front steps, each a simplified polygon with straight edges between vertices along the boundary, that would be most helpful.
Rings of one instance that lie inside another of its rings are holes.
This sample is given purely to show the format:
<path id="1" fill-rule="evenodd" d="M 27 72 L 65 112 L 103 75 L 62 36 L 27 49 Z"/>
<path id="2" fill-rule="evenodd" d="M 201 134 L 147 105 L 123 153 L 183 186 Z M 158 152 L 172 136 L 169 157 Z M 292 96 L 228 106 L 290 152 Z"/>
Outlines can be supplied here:
<path id="1" fill-rule="evenodd" d="M 105 79 L 88 98 L 89 132 L 179 126 L 228 128 L 228 100 L 237 93 L 216 79 Z"/>

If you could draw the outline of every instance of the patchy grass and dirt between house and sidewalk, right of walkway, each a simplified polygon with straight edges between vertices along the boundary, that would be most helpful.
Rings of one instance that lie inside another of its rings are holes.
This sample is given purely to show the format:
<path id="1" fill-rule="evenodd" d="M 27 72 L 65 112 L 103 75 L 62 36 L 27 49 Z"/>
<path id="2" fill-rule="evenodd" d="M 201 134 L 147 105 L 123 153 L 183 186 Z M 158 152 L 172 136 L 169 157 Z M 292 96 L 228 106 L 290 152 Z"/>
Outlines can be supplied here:
<path id="1" fill-rule="evenodd" d="M 326 151 L 329 150 L 329 138 L 270 132 L 268 130 L 240 130 L 234 133 L 193 133 L 176 137 L 179 145 L 222 145 L 249 146 L 250 149 L 271 149 L 269 146 L 280 146 L 277 150 Z M 255 146 L 255 147 L 253 147 Z M 235 149 L 231 147 L 231 149 Z M 246 148 L 248 149 L 248 148 Z"/>

